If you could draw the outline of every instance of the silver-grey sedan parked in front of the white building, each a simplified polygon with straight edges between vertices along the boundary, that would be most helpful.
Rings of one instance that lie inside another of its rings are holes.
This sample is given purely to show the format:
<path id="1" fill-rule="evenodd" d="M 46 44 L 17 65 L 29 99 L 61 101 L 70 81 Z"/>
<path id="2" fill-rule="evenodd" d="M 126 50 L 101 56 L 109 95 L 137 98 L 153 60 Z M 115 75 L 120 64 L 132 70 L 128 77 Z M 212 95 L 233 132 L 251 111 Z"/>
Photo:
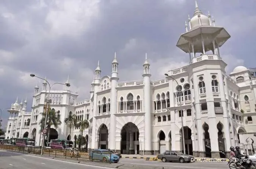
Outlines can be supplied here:
<path id="1" fill-rule="evenodd" d="M 157 155 L 157 159 L 166 161 L 179 161 L 180 163 L 191 162 L 194 157 L 192 155 L 183 154 L 180 151 L 167 150 L 162 154 Z"/>

